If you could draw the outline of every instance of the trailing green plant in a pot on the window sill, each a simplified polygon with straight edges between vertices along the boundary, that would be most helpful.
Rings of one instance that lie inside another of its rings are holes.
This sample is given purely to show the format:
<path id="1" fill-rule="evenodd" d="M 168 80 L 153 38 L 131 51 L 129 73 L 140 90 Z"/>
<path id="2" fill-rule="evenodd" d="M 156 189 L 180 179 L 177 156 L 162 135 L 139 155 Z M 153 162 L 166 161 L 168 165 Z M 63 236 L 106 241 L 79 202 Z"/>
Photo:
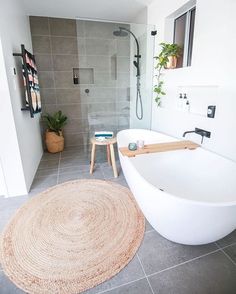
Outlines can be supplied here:
<path id="1" fill-rule="evenodd" d="M 162 80 L 162 74 L 164 69 L 176 68 L 177 58 L 180 56 L 181 47 L 178 44 L 160 43 L 161 51 L 159 55 L 154 58 L 157 61 L 155 69 L 157 74 L 155 75 L 157 83 L 154 86 L 154 92 L 156 93 L 155 101 L 157 106 L 161 104 L 161 98 L 166 95 L 163 90 L 164 81 Z"/>

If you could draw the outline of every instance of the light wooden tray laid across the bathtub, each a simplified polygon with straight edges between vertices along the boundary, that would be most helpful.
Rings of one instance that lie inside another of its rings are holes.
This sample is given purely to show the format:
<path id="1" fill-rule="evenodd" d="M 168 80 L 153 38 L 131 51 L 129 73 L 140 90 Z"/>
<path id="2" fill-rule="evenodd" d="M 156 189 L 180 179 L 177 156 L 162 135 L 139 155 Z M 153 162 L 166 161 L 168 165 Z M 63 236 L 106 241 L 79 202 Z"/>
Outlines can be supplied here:
<path id="1" fill-rule="evenodd" d="M 148 144 L 144 145 L 144 148 L 131 151 L 128 147 L 120 147 L 119 150 L 123 156 L 134 157 L 140 154 L 147 153 L 156 153 L 156 152 L 165 152 L 181 149 L 190 149 L 194 150 L 200 147 L 200 145 L 192 141 L 176 141 L 176 142 L 167 142 L 167 143 L 158 143 L 158 144 Z"/>

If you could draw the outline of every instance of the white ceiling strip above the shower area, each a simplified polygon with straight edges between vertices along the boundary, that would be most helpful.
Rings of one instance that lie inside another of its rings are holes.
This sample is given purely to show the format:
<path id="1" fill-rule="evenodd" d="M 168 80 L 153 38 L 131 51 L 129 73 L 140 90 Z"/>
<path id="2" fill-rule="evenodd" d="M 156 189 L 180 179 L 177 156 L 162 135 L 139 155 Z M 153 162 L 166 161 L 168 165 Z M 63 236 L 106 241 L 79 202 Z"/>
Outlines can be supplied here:
<path id="1" fill-rule="evenodd" d="M 153 0 L 22 0 L 28 15 L 132 22 Z"/>

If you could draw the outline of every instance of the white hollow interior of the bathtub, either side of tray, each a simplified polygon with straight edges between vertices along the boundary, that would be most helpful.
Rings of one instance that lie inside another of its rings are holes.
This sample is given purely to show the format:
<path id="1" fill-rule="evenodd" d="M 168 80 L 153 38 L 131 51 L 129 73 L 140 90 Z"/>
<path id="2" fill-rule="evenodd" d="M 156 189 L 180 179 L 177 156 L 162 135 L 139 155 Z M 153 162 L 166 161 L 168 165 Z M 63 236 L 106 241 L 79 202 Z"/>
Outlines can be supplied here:
<path id="1" fill-rule="evenodd" d="M 128 130 L 119 147 L 144 139 L 146 144 L 177 139 L 151 132 Z M 236 202 L 236 163 L 197 148 L 138 155 L 128 158 L 149 183 L 169 194 L 210 203 Z"/>

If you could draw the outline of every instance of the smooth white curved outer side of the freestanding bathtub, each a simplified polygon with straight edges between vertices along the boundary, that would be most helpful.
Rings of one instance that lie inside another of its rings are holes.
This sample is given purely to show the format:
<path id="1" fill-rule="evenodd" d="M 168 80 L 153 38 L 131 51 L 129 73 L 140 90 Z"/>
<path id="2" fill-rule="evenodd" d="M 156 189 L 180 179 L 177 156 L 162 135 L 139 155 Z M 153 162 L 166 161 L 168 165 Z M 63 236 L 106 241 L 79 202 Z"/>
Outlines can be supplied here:
<path id="1" fill-rule="evenodd" d="M 119 143 L 118 140 L 118 147 Z M 176 243 L 200 245 L 219 240 L 235 229 L 235 205 L 204 206 L 173 197 L 146 181 L 129 158 L 120 152 L 119 158 L 126 181 L 143 214 L 165 238 Z"/>

